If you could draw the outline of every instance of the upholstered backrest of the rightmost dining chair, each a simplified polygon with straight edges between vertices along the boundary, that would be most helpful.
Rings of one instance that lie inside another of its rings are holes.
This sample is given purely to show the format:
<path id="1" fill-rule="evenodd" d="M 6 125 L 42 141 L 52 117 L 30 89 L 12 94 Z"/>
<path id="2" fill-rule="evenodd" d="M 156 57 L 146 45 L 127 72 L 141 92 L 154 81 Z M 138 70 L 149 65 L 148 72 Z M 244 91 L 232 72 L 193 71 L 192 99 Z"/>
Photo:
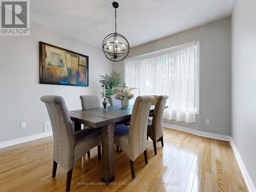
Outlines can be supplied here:
<path id="1" fill-rule="evenodd" d="M 160 95 L 157 97 L 157 102 L 155 104 L 154 114 L 153 114 L 153 121 L 152 121 L 152 139 L 157 141 L 163 136 L 163 112 L 165 109 L 166 100 L 169 97 L 167 95 Z"/>

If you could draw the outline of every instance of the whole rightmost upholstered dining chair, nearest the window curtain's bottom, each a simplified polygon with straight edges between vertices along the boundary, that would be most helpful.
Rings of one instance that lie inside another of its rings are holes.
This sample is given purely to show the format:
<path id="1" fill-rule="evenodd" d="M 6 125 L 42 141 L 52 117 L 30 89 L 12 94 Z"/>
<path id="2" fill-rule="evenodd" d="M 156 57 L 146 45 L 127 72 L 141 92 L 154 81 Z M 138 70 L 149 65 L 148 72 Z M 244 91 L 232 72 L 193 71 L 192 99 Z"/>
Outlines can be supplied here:
<path id="1" fill-rule="evenodd" d="M 166 100 L 168 98 L 169 97 L 167 95 L 160 95 L 157 97 L 153 120 L 148 120 L 147 123 L 147 138 L 150 137 L 153 140 L 155 154 L 157 154 L 156 142 L 158 140 L 161 140 L 161 144 L 163 146 L 163 112 L 165 109 Z"/>

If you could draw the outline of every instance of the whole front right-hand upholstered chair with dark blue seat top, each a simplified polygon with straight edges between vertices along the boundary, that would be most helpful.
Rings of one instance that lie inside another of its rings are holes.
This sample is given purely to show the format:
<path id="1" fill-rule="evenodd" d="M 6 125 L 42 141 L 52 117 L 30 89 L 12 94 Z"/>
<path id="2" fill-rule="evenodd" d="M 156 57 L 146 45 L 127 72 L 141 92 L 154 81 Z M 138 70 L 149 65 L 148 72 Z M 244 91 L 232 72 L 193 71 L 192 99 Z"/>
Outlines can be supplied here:
<path id="1" fill-rule="evenodd" d="M 135 178 L 134 161 L 144 152 L 147 164 L 147 118 L 153 96 L 138 96 L 133 106 L 130 126 L 115 128 L 114 143 L 130 158 L 132 178 Z"/>

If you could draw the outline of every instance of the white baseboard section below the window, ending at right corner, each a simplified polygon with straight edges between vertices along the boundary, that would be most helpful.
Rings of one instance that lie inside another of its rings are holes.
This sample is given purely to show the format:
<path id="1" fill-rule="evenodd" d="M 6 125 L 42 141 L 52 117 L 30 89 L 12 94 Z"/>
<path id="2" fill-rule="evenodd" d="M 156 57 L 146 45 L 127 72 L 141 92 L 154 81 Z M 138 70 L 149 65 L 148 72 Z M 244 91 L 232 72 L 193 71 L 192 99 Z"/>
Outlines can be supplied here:
<path id="1" fill-rule="evenodd" d="M 183 132 L 191 133 L 191 134 L 194 134 L 194 135 L 199 135 L 199 136 L 202 136 L 202 137 L 208 137 L 208 138 L 212 138 L 212 139 L 220 139 L 220 140 L 224 140 L 224 141 L 230 141 L 230 139 L 231 139 L 230 136 L 219 135 L 219 134 L 214 134 L 214 133 L 207 133 L 207 132 L 201 132 L 201 131 L 192 130 L 192 129 L 189 129 L 189 128 L 186 128 L 186 127 L 167 124 L 167 123 L 163 123 L 163 126 L 168 127 L 168 128 L 172 128 L 174 130 L 180 130 L 180 131 L 183 131 Z"/>

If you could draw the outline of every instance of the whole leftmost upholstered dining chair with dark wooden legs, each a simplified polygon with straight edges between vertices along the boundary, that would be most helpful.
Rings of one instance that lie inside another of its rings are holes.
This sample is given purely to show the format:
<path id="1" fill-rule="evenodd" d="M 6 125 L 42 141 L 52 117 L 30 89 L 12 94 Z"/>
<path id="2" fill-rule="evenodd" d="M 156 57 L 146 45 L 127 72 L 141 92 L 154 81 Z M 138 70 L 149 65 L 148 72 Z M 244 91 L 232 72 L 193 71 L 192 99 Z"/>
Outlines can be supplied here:
<path id="1" fill-rule="evenodd" d="M 53 131 L 53 168 L 56 176 L 57 165 L 67 173 L 66 191 L 70 190 L 74 164 L 93 147 L 98 146 L 98 159 L 101 158 L 101 133 L 92 129 L 73 132 L 71 119 L 65 101 L 60 96 L 42 96 L 46 104 Z"/>

